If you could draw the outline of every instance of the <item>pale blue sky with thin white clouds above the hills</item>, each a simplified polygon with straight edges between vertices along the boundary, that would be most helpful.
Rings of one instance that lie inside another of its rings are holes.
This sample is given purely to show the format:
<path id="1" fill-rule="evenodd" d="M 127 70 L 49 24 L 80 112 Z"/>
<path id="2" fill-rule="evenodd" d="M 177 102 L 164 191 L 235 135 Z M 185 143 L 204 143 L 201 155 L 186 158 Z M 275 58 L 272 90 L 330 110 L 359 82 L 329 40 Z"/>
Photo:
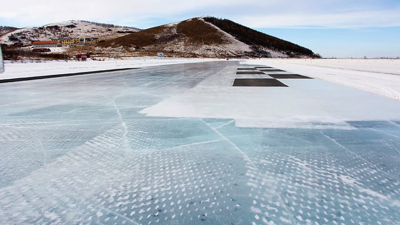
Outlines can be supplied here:
<path id="1" fill-rule="evenodd" d="M 400 0 L 19 0 L 0 3 L 0 26 L 81 19 L 146 29 L 210 15 L 324 57 L 400 57 Z"/>

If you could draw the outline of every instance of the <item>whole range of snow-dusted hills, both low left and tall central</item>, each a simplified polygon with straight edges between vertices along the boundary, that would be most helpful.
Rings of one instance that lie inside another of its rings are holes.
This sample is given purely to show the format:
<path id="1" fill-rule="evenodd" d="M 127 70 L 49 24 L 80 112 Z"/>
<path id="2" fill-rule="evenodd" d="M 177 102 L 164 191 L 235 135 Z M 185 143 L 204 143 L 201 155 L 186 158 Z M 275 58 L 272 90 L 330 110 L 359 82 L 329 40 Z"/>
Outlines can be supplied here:
<path id="1" fill-rule="evenodd" d="M 97 44 L 71 38 L 95 38 Z M 67 39 L 67 40 L 66 40 Z M 94 57 L 319 57 L 310 49 L 293 44 L 229 19 L 201 16 L 144 30 L 88 21 L 65 21 L 42 27 L 17 29 L 0 36 L 0 43 L 32 51 L 34 40 L 59 40 L 63 47 L 51 53 L 72 57 L 90 52 Z M 69 56 L 68 56 L 69 55 Z"/>

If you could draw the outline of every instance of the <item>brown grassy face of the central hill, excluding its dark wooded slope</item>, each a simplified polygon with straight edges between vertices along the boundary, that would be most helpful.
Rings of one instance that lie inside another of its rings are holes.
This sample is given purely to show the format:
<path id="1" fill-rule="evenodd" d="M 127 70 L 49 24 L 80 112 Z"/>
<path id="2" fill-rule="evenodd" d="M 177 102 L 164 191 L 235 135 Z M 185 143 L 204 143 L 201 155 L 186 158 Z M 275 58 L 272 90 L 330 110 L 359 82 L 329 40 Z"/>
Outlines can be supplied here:
<path id="1" fill-rule="evenodd" d="M 225 57 L 251 52 L 244 43 L 228 33 L 206 23 L 202 18 L 162 25 L 97 44 L 104 50 L 117 48 L 119 54 L 155 55 L 165 52 L 169 56 Z"/>

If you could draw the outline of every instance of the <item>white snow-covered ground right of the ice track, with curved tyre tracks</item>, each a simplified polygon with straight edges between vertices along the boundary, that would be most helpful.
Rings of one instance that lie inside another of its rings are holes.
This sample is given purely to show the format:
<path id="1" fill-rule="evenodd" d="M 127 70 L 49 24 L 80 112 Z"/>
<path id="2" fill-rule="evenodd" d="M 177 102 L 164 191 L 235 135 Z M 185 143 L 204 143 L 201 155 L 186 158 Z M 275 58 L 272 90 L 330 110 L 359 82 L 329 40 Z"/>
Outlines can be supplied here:
<path id="1" fill-rule="evenodd" d="M 400 59 L 259 59 L 260 64 L 400 99 Z"/>

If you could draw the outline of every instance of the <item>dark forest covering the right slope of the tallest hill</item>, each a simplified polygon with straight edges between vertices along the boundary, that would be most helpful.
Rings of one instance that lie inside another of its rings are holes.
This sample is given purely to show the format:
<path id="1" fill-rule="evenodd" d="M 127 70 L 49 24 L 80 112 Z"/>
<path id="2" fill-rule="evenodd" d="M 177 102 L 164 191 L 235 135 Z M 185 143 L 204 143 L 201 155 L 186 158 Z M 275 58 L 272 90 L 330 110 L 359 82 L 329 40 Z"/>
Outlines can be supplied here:
<path id="1" fill-rule="evenodd" d="M 293 44 L 283 39 L 264 34 L 240 24 L 236 24 L 229 19 L 219 19 L 215 17 L 205 17 L 204 20 L 209 22 L 221 30 L 233 35 L 238 40 L 250 46 L 264 46 L 270 49 L 275 49 L 282 52 L 293 52 L 315 57 L 315 54 L 307 48 Z"/>

